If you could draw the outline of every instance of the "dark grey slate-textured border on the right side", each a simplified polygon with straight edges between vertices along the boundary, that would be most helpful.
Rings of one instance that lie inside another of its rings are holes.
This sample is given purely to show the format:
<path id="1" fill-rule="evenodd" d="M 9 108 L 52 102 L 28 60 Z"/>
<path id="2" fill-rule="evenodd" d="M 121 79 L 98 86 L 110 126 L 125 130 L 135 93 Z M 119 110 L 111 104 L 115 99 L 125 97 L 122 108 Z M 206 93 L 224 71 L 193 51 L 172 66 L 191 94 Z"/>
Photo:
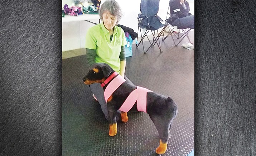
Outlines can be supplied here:
<path id="1" fill-rule="evenodd" d="M 195 155 L 256 155 L 255 1 L 195 0 Z"/>

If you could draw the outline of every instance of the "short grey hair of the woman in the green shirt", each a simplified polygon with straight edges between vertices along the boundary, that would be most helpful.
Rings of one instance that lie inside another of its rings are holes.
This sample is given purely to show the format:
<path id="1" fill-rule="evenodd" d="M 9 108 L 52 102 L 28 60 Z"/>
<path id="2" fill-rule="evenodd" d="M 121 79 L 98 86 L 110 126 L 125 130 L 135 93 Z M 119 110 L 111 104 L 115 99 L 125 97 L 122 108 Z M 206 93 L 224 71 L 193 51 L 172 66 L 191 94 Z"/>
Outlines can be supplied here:
<path id="1" fill-rule="evenodd" d="M 121 7 L 115 0 L 107 0 L 101 5 L 101 8 L 99 10 L 101 20 L 103 20 L 103 14 L 105 12 L 110 12 L 111 15 L 117 17 L 116 24 L 120 21 L 122 16 Z"/>

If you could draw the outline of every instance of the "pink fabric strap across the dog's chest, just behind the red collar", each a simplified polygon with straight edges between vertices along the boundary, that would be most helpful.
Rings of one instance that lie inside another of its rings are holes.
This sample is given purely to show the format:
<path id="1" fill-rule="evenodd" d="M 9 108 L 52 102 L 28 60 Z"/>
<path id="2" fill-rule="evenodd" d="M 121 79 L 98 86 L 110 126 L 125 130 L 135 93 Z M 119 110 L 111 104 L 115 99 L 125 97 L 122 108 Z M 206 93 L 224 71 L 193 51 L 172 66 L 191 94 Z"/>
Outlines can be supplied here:
<path id="1" fill-rule="evenodd" d="M 121 76 L 117 75 L 106 87 L 104 91 L 104 97 L 107 99 L 115 92 L 115 90 L 125 82 L 126 80 Z M 104 81 L 105 82 L 105 81 Z M 107 83 L 106 83 L 107 84 Z"/>

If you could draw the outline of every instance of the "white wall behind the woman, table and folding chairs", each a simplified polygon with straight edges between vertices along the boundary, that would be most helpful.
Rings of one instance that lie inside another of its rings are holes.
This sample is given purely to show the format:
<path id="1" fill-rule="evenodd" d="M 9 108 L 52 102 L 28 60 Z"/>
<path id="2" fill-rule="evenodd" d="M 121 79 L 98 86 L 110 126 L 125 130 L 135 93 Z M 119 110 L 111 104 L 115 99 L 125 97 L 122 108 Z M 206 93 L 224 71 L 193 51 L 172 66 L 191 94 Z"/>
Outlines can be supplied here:
<path id="1" fill-rule="evenodd" d="M 101 0 L 101 4 L 106 0 Z M 132 28 L 135 32 L 138 29 L 137 16 L 140 12 L 140 0 L 116 0 L 121 6 L 122 19 L 119 24 Z M 188 0 L 189 4 L 190 1 Z M 71 4 L 74 0 L 62 0 L 62 7 L 64 4 Z M 166 12 L 168 11 L 169 0 L 160 0 L 158 16 L 162 20 L 166 19 Z M 194 5 L 194 4 L 192 4 Z M 194 12 L 194 7 L 190 6 L 190 10 Z M 98 21 L 92 21 L 97 23 Z M 86 21 L 81 22 L 65 22 L 62 24 L 62 51 L 74 50 L 78 48 L 84 48 L 85 45 L 85 33 L 89 27 L 93 26 Z M 140 36 L 140 33 L 138 34 Z M 81 39 L 80 39 L 81 38 Z M 82 39 L 84 38 L 84 39 Z"/>

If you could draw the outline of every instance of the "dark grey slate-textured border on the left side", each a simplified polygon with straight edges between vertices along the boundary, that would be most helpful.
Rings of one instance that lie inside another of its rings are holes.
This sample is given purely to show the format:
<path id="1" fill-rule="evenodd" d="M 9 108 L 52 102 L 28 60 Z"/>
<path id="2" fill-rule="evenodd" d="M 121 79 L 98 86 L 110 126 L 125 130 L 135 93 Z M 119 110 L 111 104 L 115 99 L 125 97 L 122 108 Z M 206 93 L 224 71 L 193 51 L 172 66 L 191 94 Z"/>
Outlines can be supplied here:
<path id="1" fill-rule="evenodd" d="M 0 15 L 0 155 L 61 155 L 61 2 L 3 1 Z"/>

